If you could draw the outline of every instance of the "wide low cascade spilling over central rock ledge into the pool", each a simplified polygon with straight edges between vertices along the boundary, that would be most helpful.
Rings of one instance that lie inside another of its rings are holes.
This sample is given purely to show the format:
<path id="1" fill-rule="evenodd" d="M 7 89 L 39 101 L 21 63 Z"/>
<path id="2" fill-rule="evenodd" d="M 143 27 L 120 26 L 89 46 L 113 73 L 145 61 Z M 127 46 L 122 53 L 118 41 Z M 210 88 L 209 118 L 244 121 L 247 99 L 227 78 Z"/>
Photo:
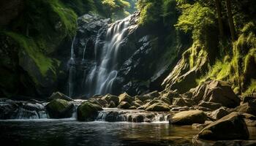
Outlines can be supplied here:
<path id="1" fill-rule="evenodd" d="M 132 123 L 167 123 L 170 113 L 146 112 L 140 110 L 105 109 L 99 112 L 96 120 L 107 122 L 132 122 Z"/>

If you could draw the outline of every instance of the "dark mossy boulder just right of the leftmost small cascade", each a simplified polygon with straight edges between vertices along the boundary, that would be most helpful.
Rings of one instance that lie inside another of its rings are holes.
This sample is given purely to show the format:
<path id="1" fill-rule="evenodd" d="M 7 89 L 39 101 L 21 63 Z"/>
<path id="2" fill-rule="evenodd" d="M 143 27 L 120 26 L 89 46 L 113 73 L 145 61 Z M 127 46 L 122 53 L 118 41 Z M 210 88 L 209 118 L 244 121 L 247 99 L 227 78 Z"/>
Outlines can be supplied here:
<path id="1" fill-rule="evenodd" d="M 74 112 L 74 104 L 63 99 L 53 99 L 46 105 L 50 118 L 70 118 Z"/>

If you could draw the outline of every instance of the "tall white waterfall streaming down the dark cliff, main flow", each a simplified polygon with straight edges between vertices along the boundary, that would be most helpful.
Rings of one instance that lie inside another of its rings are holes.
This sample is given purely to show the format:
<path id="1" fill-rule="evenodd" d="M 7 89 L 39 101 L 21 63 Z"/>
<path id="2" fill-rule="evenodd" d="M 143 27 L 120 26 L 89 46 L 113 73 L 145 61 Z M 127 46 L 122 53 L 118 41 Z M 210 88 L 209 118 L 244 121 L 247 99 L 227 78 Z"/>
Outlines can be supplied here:
<path id="1" fill-rule="evenodd" d="M 99 64 L 94 64 L 88 76 L 86 85 L 89 87 L 89 96 L 94 94 L 111 93 L 113 82 L 118 74 L 118 50 L 129 28 L 129 17 L 118 20 L 109 26 L 105 44 L 100 50 Z M 98 37 L 95 44 L 95 55 L 97 56 Z M 97 57 L 95 58 L 97 60 Z M 96 61 L 97 62 L 97 61 Z"/>

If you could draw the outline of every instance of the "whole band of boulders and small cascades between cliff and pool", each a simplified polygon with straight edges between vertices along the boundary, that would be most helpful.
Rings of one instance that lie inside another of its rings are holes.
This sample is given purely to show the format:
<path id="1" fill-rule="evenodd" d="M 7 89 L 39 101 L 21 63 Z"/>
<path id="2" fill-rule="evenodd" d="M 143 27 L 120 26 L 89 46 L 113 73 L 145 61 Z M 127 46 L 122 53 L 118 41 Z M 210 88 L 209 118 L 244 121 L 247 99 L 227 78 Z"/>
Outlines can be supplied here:
<path id="1" fill-rule="evenodd" d="M 255 94 L 237 96 L 230 85 L 223 81 L 204 82 L 184 94 L 179 94 L 178 91 L 154 91 L 142 96 L 122 93 L 119 96 L 95 95 L 88 100 L 73 100 L 57 92 L 48 100 L 1 99 L 0 118 L 162 122 L 169 123 L 169 126 L 190 126 L 197 129 L 193 140 L 196 145 L 203 145 L 202 139 L 217 142 L 229 140 L 232 145 L 237 142 L 240 142 L 239 145 L 256 144 Z"/>

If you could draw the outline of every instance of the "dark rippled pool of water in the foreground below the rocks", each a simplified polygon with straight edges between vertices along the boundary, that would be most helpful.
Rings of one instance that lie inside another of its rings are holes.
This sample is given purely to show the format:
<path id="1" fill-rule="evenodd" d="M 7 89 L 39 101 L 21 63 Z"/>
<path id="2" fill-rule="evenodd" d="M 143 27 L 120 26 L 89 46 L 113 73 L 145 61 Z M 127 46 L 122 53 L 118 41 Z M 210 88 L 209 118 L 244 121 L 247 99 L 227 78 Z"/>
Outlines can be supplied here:
<path id="1" fill-rule="evenodd" d="M 198 132 L 168 123 L 1 120 L 0 145 L 192 145 Z"/>

